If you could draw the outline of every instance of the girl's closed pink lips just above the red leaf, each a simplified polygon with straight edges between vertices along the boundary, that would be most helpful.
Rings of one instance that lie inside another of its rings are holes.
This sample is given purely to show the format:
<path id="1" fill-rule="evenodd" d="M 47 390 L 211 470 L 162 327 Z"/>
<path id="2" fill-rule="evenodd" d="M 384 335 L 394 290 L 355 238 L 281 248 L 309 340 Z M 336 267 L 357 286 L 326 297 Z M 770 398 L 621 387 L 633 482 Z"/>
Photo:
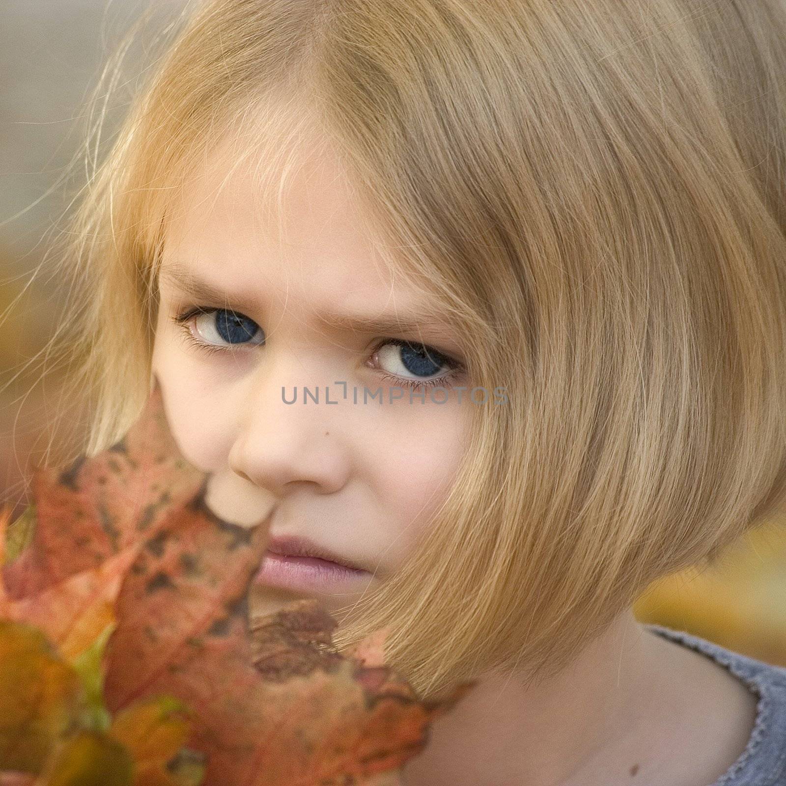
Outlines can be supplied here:
<path id="1" fill-rule="evenodd" d="M 307 538 L 281 536 L 270 538 L 254 583 L 310 592 L 358 581 L 368 583 L 369 578 L 369 571 L 333 555 Z"/>

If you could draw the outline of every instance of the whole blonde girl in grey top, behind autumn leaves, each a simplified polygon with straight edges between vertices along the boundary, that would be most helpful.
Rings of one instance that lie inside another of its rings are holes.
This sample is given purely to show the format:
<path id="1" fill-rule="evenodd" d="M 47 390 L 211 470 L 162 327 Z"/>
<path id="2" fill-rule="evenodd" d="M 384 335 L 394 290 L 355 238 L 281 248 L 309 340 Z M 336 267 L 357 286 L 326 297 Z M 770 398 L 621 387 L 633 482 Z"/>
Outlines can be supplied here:
<path id="1" fill-rule="evenodd" d="M 784 73 L 775 0 L 208 0 L 151 58 L 63 257 L 86 450 L 160 384 L 252 613 L 479 680 L 410 786 L 786 784 L 786 670 L 631 611 L 786 502 Z"/>

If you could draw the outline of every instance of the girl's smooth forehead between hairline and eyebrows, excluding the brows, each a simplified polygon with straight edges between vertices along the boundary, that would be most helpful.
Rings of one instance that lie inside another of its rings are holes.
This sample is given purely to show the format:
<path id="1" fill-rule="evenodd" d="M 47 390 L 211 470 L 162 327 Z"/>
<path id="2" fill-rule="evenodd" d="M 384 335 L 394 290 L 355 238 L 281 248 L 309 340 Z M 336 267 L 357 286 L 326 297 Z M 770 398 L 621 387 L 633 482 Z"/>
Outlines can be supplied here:
<path id="1" fill-rule="evenodd" d="M 280 172 L 219 150 L 189 174 L 163 235 L 165 256 L 263 277 L 325 279 L 340 289 L 391 288 L 335 161 L 292 156 Z M 280 184 L 276 187 L 276 184 Z"/>

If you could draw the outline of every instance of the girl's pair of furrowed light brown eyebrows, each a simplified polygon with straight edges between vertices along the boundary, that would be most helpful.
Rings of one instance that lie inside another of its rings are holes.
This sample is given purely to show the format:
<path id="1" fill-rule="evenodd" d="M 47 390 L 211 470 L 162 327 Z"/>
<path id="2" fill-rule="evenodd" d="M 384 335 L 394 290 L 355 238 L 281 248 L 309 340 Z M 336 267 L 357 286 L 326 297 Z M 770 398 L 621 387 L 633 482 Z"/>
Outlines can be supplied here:
<path id="1" fill-rule="evenodd" d="M 248 316 L 247 312 L 258 310 L 261 303 L 247 294 L 230 296 L 221 288 L 215 287 L 210 281 L 205 281 L 193 274 L 182 263 L 175 261 L 162 263 L 159 277 L 168 281 L 174 287 L 185 292 L 195 300 L 205 303 L 224 303 L 229 310 L 240 311 Z M 417 314 L 413 311 L 402 311 L 399 314 L 341 314 L 335 311 L 325 311 L 316 314 L 318 322 L 325 328 L 347 332 L 391 333 L 399 332 L 419 336 L 427 333 L 436 340 L 445 340 L 456 343 L 457 339 L 452 330 L 435 318 L 433 315 Z"/>

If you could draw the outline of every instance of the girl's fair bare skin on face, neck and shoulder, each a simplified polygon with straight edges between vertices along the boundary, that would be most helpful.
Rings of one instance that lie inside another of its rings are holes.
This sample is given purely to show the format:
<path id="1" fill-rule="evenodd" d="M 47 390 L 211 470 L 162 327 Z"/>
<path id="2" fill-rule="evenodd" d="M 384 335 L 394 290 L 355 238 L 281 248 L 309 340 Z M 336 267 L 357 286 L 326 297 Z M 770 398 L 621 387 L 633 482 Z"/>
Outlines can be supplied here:
<path id="1" fill-rule="evenodd" d="M 426 343 L 461 360 L 461 334 L 446 324 L 407 335 L 318 321 L 325 311 L 417 312 L 423 293 L 378 263 L 332 158 L 304 161 L 285 198 L 280 251 L 256 220 L 250 168 L 229 174 L 228 161 L 217 149 L 183 190 L 163 252 L 164 270 L 178 264 L 224 293 L 222 302 L 195 299 L 171 275 L 160 277 L 152 373 L 182 453 L 210 473 L 216 513 L 244 526 L 266 522 L 271 535 L 305 536 L 365 571 L 308 594 L 254 586 L 252 614 L 309 594 L 336 612 L 413 549 L 450 488 L 476 406 L 451 389 L 471 384 L 462 377 L 445 377 L 443 404 L 427 396 L 424 404 L 362 406 L 341 399 L 336 382 L 387 391 L 423 379 L 399 347 L 380 348 L 382 340 Z M 173 318 L 197 305 L 214 309 L 188 323 L 198 339 L 236 341 L 217 329 L 215 310 L 228 307 L 243 315 L 249 341 L 231 354 L 190 346 Z M 282 387 L 290 395 L 303 385 L 328 386 L 338 404 L 283 402 Z M 432 725 L 404 782 L 708 786 L 743 751 L 754 719 L 755 698 L 744 686 L 646 631 L 629 609 L 554 678 L 531 685 L 519 674 L 480 675 Z"/>

